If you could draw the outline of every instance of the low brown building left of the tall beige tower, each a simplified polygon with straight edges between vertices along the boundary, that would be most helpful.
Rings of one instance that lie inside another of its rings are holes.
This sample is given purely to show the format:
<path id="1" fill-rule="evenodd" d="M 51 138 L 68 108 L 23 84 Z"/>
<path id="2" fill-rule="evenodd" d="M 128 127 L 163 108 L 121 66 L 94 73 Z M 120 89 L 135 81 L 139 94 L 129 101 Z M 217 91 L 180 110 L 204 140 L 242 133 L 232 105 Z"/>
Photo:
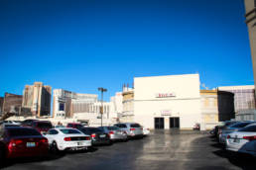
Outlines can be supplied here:
<path id="1" fill-rule="evenodd" d="M 22 95 L 15 95 L 11 93 L 5 93 L 3 101 L 3 113 L 21 113 L 22 108 Z"/>

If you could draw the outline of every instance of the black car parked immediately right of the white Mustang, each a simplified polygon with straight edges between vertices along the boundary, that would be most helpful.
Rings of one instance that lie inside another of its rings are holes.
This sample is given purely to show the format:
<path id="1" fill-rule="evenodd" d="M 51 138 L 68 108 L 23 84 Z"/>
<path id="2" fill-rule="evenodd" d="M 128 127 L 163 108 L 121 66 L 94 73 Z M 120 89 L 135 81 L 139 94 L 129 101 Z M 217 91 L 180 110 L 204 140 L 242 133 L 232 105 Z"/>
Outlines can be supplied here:
<path id="1" fill-rule="evenodd" d="M 84 134 L 90 135 L 92 145 L 111 143 L 109 135 L 97 127 L 83 127 L 80 128 L 80 131 Z"/>

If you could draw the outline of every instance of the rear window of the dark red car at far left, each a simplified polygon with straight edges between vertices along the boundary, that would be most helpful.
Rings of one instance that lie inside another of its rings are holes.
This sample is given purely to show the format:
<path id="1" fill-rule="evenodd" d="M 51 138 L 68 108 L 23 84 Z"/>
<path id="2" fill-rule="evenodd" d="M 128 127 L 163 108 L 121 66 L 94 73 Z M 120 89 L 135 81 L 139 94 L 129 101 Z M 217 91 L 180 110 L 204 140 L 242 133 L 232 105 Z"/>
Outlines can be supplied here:
<path id="1" fill-rule="evenodd" d="M 10 136 L 24 136 L 24 135 L 41 135 L 41 133 L 33 128 L 9 128 Z"/>

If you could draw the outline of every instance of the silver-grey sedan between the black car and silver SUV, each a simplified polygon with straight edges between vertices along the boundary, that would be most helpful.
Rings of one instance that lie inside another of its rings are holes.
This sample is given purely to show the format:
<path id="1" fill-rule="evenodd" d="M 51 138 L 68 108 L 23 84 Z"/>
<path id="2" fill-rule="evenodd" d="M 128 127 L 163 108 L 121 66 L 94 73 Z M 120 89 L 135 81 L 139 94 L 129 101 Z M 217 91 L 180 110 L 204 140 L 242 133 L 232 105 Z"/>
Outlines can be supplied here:
<path id="1" fill-rule="evenodd" d="M 114 141 L 114 140 L 126 141 L 128 139 L 126 131 L 121 130 L 119 127 L 98 127 L 98 128 L 103 130 L 105 133 L 107 133 L 111 141 Z"/>

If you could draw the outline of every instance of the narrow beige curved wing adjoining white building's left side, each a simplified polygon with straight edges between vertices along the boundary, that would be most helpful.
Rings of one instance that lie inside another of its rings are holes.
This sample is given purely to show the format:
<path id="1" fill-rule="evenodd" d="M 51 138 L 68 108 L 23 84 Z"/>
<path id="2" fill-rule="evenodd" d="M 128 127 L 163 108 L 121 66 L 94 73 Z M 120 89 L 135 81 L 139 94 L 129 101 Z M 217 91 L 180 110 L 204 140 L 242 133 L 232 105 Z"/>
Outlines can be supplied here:
<path id="1" fill-rule="evenodd" d="M 134 89 L 123 87 L 123 112 L 119 115 L 121 123 L 134 122 Z"/>

